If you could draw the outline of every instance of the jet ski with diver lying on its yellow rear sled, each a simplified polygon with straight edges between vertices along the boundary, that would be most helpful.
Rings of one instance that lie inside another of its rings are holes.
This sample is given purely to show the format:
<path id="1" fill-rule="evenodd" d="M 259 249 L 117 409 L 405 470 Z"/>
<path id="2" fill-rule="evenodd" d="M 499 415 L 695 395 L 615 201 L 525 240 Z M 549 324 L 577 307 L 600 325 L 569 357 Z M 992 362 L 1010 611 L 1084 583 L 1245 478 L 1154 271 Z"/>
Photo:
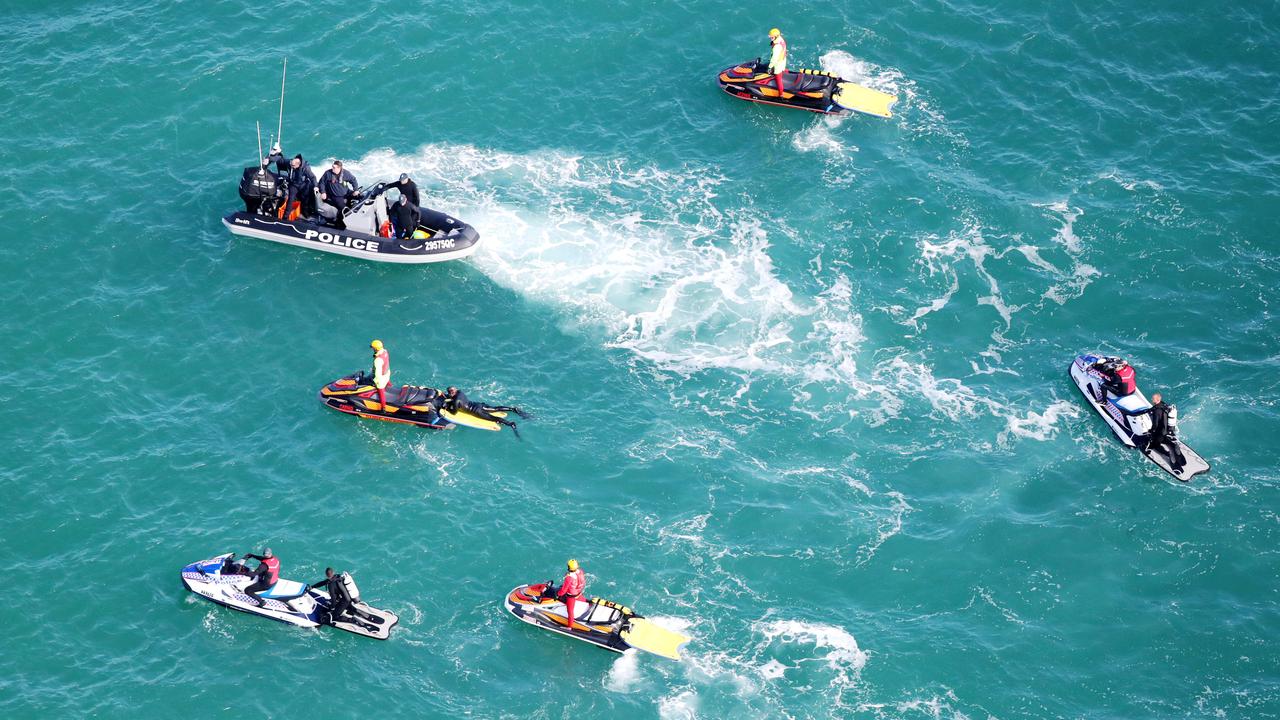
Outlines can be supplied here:
<path id="1" fill-rule="evenodd" d="M 449 413 L 444 409 L 444 395 L 431 387 L 387 386 L 387 407 L 383 407 L 374 386 L 374 377 L 361 370 L 339 378 L 320 388 L 320 402 L 339 413 L 356 415 L 369 420 L 406 423 L 433 430 L 444 430 L 453 425 L 463 425 L 480 430 L 498 432 L 502 425 L 458 409 Z M 489 415 L 506 418 L 506 410 L 485 407 Z"/>

